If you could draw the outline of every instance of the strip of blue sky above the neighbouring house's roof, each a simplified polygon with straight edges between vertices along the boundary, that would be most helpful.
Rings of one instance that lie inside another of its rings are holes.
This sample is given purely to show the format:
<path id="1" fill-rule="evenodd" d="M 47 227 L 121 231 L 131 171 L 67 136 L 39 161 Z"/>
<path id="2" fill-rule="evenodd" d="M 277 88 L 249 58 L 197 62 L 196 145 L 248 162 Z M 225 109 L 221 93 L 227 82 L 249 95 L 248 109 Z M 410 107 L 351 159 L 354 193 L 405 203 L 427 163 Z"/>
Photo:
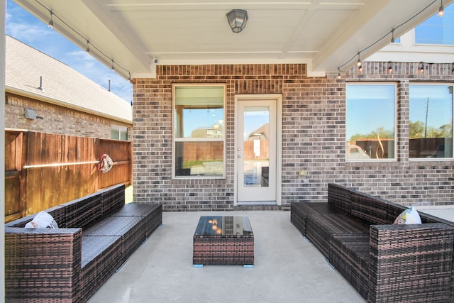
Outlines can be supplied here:
<path id="1" fill-rule="evenodd" d="M 98 62 L 85 50 L 49 28 L 46 23 L 12 0 L 6 0 L 6 35 L 60 60 L 101 87 L 107 89 L 111 80 L 111 92 L 131 103 L 132 85 L 128 80 Z"/>

